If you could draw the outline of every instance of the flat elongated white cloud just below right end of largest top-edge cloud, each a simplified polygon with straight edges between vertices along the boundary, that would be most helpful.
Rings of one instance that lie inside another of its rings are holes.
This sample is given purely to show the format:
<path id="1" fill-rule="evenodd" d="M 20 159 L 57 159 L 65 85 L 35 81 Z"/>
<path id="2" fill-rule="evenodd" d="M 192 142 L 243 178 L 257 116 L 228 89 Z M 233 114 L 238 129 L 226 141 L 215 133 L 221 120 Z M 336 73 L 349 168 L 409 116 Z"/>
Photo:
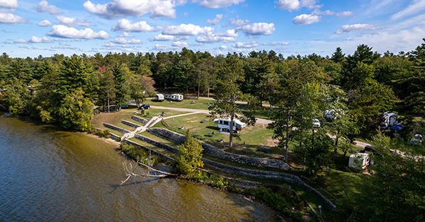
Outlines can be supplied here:
<path id="1" fill-rule="evenodd" d="M 162 27 L 163 35 L 211 35 L 214 32 L 212 27 L 200 27 L 193 24 L 181 24 Z"/>

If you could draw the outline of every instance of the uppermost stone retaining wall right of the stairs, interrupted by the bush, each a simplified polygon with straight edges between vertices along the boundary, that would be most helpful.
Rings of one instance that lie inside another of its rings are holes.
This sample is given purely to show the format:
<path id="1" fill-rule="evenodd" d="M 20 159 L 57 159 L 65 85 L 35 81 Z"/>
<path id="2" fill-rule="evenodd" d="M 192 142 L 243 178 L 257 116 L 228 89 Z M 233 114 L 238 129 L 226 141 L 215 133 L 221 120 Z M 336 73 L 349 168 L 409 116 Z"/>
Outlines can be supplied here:
<path id="1" fill-rule="evenodd" d="M 166 139 L 168 141 L 172 141 L 176 144 L 183 144 L 184 139 L 186 136 L 183 136 L 181 134 L 177 134 L 175 132 L 171 132 L 167 129 L 147 129 L 147 132 L 154 134 L 155 136 L 159 136 L 162 139 Z M 250 156 L 244 156 L 239 155 L 235 153 L 228 153 L 225 151 L 220 150 L 219 148 L 212 146 L 210 144 L 206 144 L 205 142 L 201 141 L 202 147 L 204 149 L 203 153 L 208 154 L 210 156 L 215 156 L 218 158 L 222 158 L 225 160 L 231 160 L 237 163 L 243 163 L 248 165 L 261 165 L 265 167 L 271 167 L 271 168 L 279 168 L 279 169 L 285 169 L 285 170 L 291 170 L 290 166 L 283 162 L 282 160 L 274 160 L 274 159 L 268 159 L 268 158 L 256 158 L 256 157 L 250 157 Z"/>

